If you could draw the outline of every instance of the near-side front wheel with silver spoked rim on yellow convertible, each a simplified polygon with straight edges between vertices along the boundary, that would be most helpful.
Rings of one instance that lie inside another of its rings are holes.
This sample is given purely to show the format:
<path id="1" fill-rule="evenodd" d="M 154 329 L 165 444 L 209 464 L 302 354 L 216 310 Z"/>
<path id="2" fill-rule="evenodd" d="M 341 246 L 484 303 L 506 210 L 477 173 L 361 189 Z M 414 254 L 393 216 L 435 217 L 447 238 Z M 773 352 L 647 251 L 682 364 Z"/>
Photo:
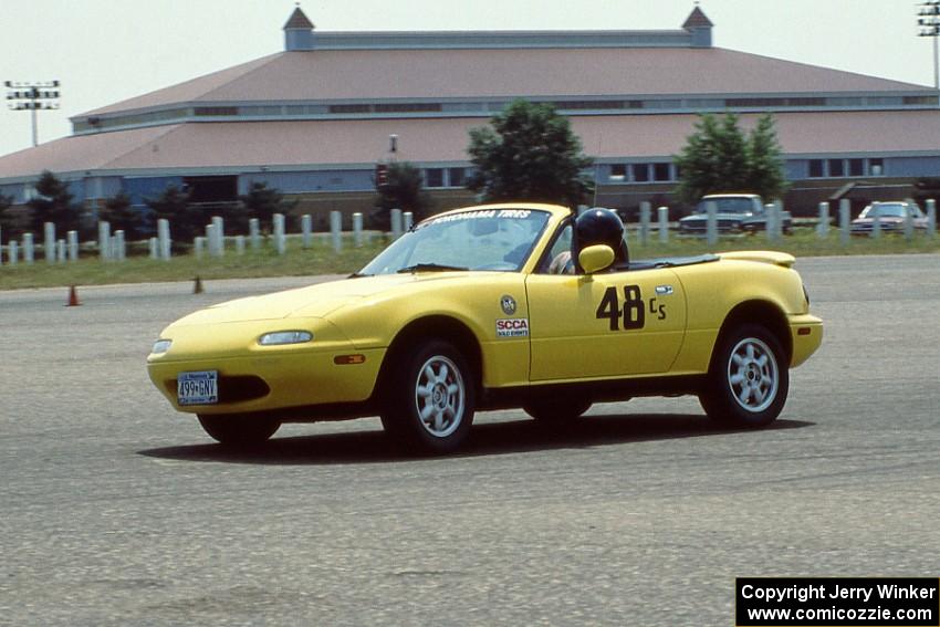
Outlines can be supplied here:
<path id="1" fill-rule="evenodd" d="M 470 435 L 477 398 L 463 355 L 447 342 L 427 339 L 389 365 L 380 416 L 385 431 L 411 452 L 457 450 Z"/>

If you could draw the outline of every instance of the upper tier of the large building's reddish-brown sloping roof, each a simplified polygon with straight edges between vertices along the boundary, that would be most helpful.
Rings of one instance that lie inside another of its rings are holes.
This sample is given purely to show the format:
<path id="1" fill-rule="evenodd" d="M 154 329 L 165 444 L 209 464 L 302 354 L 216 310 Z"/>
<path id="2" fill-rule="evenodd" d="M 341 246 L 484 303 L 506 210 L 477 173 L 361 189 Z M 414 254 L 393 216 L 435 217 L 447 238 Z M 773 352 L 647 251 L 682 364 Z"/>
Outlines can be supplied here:
<path id="1" fill-rule="evenodd" d="M 182 103 L 898 91 L 936 94 L 920 85 L 716 48 L 314 50 L 264 56 L 73 119 Z"/>

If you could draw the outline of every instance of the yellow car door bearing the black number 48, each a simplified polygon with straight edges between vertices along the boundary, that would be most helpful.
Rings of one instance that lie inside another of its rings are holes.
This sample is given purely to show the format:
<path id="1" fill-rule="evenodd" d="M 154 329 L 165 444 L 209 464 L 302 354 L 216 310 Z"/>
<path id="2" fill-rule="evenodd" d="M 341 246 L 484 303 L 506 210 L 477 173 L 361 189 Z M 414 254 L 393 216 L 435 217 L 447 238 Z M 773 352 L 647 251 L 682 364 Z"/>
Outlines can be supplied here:
<path id="1" fill-rule="evenodd" d="M 686 297 L 668 268 L 531 274 L 533 382 L 668 372 L 686 331 Z"/>

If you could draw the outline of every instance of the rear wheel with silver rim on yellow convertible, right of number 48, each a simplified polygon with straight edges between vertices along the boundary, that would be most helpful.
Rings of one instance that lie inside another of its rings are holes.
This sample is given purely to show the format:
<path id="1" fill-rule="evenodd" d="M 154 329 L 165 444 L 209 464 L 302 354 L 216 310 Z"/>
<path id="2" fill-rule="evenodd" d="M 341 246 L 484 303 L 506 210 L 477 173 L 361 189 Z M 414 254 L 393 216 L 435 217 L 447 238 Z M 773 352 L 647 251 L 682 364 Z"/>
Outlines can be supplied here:
<path id="1" fill-rule="evenodd" d="M 790 368 L 776 336 L 743 324 L 724 333 L 699 401 L 708 417 L 731 427 L 764 427 L 786 403 Z"/>

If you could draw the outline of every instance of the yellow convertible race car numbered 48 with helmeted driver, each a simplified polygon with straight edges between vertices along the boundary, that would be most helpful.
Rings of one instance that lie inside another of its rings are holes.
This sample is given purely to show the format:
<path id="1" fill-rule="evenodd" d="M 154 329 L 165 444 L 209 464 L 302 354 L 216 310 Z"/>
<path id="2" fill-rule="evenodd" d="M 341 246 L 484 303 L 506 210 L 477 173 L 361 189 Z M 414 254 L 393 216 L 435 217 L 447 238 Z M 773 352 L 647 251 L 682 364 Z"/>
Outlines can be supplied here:
<path id="1" fill-rule="evenodd" d="M 760 427 L 822 342 L 793 262 L 636 261 L 607 209 L 469 207 L 417 224 L 348 279 L 192 313 L 147 364 L 170 404 L 227 445 L 378 415 L 399 443 L 440 453 L 480 409 L 560 421 L 640 395 L 697 395 L 710 418 Z"/>

